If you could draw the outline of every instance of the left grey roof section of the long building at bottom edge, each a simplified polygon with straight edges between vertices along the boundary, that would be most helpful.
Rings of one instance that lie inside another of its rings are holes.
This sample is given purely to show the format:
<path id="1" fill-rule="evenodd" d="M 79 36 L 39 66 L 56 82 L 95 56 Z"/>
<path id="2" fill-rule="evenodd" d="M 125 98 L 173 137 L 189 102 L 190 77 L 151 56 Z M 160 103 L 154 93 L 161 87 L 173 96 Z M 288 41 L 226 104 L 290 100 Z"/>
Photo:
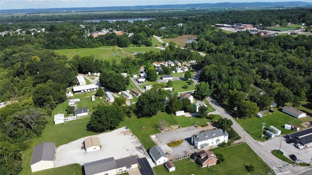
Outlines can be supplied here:
<path id="1" fill-rule="evenodd" d="M 109 157 L 84 164 L 85 175 L 93 175 L 100 172 L 116 169 L 116 161 L 114 157 Z"/>

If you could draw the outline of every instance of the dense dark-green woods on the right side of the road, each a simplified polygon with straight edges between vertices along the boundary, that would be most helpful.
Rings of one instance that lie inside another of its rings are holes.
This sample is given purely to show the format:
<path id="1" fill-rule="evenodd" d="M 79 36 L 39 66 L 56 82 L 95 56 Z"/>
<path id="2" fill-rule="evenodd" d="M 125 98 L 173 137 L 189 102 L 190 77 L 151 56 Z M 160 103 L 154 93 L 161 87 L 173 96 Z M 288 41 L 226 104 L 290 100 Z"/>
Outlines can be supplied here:
<path id="1" fill-rule="evenodd" d="M 237 112 L 246 106 L 267 109 L 273 100 L 278 105 L 289 102 L 299 106 L 312 95 L 310 35 L 263 37 L 248 32 L 206 31 L 198 39 L 197 50 L 209 53 L 196 64 L 196 69 L 202 69 L 200 81 L 209 83 L 216 99 L 238 107 Z M 266 94 L 260 95 L 252 85 Z M 252 113 L 240 116 L 250 117 Z"/>

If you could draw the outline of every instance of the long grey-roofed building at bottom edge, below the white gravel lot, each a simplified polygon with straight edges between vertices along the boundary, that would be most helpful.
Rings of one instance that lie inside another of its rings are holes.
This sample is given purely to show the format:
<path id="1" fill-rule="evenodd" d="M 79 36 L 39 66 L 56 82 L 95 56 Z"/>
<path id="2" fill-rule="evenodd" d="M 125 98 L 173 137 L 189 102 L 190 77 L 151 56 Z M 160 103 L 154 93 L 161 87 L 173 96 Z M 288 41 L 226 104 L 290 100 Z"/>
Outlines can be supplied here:
<path id="1" fill-rule="evenodd" d="M 138 168 L 137 157 L 130 156 L 115 160 L 109 157 L 85 163 L 84 175 L 117 175 Z"/>

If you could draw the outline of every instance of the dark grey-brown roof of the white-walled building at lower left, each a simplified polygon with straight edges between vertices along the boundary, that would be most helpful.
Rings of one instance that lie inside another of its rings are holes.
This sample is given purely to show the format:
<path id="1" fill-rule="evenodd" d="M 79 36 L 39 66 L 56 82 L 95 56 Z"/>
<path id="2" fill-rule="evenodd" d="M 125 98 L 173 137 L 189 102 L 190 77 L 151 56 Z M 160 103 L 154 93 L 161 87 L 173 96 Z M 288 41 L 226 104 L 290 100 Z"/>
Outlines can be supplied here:
<path id="1" fill-rule="evenodd" d="M 53 161 L 55 154 L 55 143 L 54 142 L 43 142 L 34 148 L 33 157 L 31 158 L 31 165 L 41 160 Z"/>

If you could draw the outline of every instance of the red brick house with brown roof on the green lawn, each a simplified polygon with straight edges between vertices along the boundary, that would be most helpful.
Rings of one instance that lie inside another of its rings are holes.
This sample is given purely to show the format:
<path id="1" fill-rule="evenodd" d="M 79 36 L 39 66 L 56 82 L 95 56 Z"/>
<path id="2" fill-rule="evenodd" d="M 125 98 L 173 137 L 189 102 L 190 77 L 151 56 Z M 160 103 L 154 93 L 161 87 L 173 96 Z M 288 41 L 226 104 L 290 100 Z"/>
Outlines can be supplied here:
<path id="1" fill-rule="evenodd" d="M 195 153 L 192 158 L 201 165 L 202 168 L 210 167 L 211 165 L 215 165 L 218 160 L 213 151 L 202 150 L 198 153 Z"/>

